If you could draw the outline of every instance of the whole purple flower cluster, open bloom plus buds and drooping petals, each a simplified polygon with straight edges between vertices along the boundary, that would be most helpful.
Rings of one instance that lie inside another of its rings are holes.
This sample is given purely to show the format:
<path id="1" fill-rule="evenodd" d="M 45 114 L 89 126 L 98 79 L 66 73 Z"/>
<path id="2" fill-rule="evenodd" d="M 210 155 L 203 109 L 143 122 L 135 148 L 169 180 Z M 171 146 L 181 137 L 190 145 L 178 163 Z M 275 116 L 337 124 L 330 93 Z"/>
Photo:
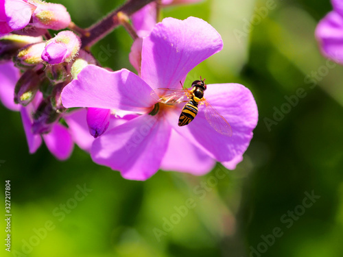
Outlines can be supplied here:
<path id="1" fill-rule="evenodd" d="M 202 102 L 195 119 L 179 127 L 185 104 L 168 105 L 152 97 L 157 88 L 180 91 L 189 71 L 223 48 L 220 34 L 202 19 L 166 18 L 156 23 L 158 3 L 187 2 L 196 0 L 157 1 L 132 16 L 139 38 L 134 38 L 129 58 L 137 75 L 100 67 L 86 43 L 93 42 L 92 30 L 75 29 L 62 5 L 2 1 L 0 99 L 21 112 L 29 151 L 36 151 L 43 138 L 51 153 L 63 160 L 75 142 L 90 151 L 94 162 L 130 180 L 146 180 L 158 169 L 202 175 L 215 162 L 235 169 L 258 121 L 248 88 L 209 84 L 204 92 L 217 117 L 230 123 L 230 137 L 213 129 Z M 129 4 L 141 8 L 139 1 Z M 74 31 L 64 30 L 54 38 L 47 31 L 67 26 Z"/>

